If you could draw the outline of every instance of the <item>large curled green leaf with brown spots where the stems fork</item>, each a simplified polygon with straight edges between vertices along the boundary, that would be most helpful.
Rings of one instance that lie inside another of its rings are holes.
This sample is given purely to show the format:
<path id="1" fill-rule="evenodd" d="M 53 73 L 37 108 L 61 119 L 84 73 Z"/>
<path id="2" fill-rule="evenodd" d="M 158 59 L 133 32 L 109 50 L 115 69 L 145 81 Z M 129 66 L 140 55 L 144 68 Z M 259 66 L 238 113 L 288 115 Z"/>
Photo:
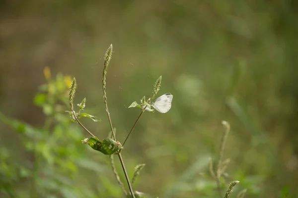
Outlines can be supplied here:
<path id="1" fill-rule="evenodd" d="M 94 150 L 102 152 L 103 154 L 106 154 L 106 155 L 117 154 L 123 148 L 118 141 L 116 142 L 110 138 L 99 140 L 96 137 L 91 137 L 89 139 L 87 138 L 84 139 L 82 143 L 88 144 Z"/>

